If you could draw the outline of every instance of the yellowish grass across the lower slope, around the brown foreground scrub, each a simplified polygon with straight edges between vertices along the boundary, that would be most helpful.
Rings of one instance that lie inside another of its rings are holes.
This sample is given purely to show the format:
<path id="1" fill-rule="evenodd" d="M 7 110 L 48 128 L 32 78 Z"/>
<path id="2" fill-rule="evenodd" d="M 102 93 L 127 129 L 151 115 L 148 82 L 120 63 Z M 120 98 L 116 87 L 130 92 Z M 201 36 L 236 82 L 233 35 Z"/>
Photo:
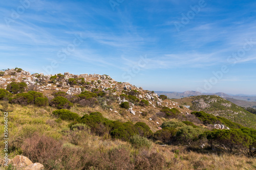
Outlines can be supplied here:
<path id="1" fill-rule="evenodd" d="M 79 151 L 82 148 L 86 148 L 87 152 L 90 152 L 92 156 L 96 157 L 94 153 L 102 154 L 113 151 L 115 148 L 125 148 L 130 154 L 130 158 L 133 159 L 134 155 L 140 155 L 141 153 L 160 153 L 164 156 L 166 166 L 164 169 L 255 169 L 255 158 L 237 157 L 234 155 L 216 155 L 216 154 L 203 154 L 193 151 L 187 151 L 185 147 L 178 146 L 165 146 L 162 147 L 157 144 L 152 144 L 150 149 L 136 149 L 131 146 L 130 143 L 112 140 L 108 136 L 98 137 L 89 133 L 76 133 L 67 134 L 63 133 L 67 131 L 69 122 L 63 121 L 61 123 L 55 122 L 55 117 L 52 116 L 52 111 L 55 110 L 52 107 L 38 108 L 34 106 L 19 106 L 9 105 L 8 108 L 2 107 L 3 101 L 0 102 L 0 109 L 5 109 L 9 113 L 9 142 L 13 145 L 18 138 L 27 139 L 30 138 L 34 132 L 40 135 L 50 136 L 58 141 L 63 142 L 62 147 L 68 148 L 72 151 Z M 72 111 L 76 111 L 80 115 L 84 112 L 90 112 L 91 108 L 73 108 Z M 96 109 L 103 112 L 99 108 Z M 115 116 L 113 115 L 113 118 Z M 1 124 L 3 127 L 3 114 L 1 114 Z M 3 128 L 0 133 L 3 134 Z M 3 139 L 3 135 L 1 137 Z M 73 144 L 74 140 L 76 145 Z M 0 141 L 1 157 L 4 154 L 3 140 Z M 179 151 L 178 156 L 175 156 L 175 151 Z M 69 151 L 69 150 L 67 150 Z M 210 153 L 211 151 L 207 151 Z M 73 153 L 73 152 L 72 152 Z M 16 152 L 10 153 L 10 158 L 14 157 Z M 49 153 L 50 155 L 51 153 Z M 74 153 L 73 153 L 74 154 Z M 121 153 L 120 153 L 121 154 Z M 74 155 L 72 155 L 74 156 Z M 100 155 L 101 156 L 101 155 Z M 98 157 L 97 159 L 100 159 Z M 70 158 L 71 159 L 71 158 Z M 91 159 L 90 157 L 88 159 Z M 113 158 L 122 159 L 122 158 Z M 77 161 L 72 157 L 72 161 Z M 69 162 L 71 164 L 71 162 Z M 102 162 L 104 163 L 104 162 Z M 152 163 L 152 162 L 151 162 Z M 153 162 L 155 163 L 155 162 Z M 72 164 L 70 165 L 70 168 Z M 113 165 L 114 166 L 114 165 Z M 117 165 L 116 165 L 117 166 Z M 61 169 L 61 168 L 56 168 Z M 74 169 L 74 168 L 73 168 Z M 93 169 L 93 168 L 92 168 Z"/>

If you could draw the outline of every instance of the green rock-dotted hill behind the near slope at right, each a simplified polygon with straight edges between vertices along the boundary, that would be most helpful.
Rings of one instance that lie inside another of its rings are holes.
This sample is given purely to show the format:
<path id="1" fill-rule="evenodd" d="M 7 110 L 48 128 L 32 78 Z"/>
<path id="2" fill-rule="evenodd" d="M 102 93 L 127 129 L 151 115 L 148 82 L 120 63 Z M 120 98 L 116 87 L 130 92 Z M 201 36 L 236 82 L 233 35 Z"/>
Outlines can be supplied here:
<path id="1" fill-rule="evenodd" d="M 256 115 L 249 113 L 218 95 L 198 95 L 188 98 L 173 99 L 180 105 L 189 105 L 191 110 L 204 111 L 215 116 L 225 117 L 233 122 L 248 127 L 256 127 Z"/>

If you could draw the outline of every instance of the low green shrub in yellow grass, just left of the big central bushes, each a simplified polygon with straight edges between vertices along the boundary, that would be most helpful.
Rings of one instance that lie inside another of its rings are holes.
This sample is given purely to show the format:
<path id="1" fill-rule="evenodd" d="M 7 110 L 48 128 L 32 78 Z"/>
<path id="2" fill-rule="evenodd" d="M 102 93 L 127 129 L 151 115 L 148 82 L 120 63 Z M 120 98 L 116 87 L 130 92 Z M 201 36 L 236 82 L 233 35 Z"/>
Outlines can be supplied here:
<path id="1" fill-rule="evenodd" d="M 81 118 L 77 113 L 71 112 L 67 109 L 55 110 L 52 114 L 62 120 L 79 120 Z"/>

